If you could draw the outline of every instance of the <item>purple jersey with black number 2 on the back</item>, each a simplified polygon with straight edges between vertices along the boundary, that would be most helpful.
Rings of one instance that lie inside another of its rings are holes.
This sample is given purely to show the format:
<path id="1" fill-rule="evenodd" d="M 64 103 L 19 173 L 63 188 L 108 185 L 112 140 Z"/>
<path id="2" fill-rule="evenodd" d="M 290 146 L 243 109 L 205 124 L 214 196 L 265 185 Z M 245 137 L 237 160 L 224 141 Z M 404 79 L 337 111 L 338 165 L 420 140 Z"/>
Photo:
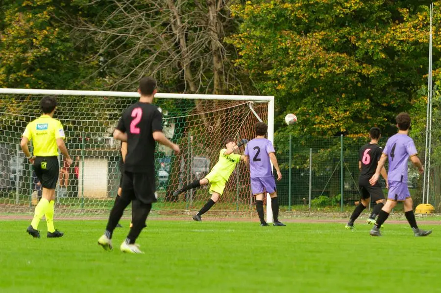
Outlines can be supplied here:
<path id="1" fill-rule="evenodd" d="M 270 153 L 275 153 L 270 140 L 254 138 L 245 147 L 245 156 L 249 157 L 249 173 L 251 178 L 272 177 Z"/>

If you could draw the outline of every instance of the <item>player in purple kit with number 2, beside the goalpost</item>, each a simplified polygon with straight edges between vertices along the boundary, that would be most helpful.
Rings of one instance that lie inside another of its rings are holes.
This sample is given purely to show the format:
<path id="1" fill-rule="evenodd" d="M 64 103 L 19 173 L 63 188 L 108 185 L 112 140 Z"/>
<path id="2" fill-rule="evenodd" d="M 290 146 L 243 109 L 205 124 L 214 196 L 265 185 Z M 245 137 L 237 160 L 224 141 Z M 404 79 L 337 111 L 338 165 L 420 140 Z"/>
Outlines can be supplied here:
<path id="1" fill-rule="evenodd" d="M 256 138 L 250 140 L 245 147 L 245 163 L 249 164 L 251 177 L 251 192 L 256 197 L 256 210 L 261 226 L 269 226 L 264 218 L 263 199 L 268 192 L 271 197 L 271 209 L 274 217 L 274 226 L 286 226 L 279 222 L 279 202 L 271 162 L 277 172 L 277 180 L 282 179 L 279 164 L 275 156 L 274 147 L 270 140 L 265 138 L 268 126 L 263 122 L 254 125 Z M 251 159 L 250 159 L 251 158 Z"/>

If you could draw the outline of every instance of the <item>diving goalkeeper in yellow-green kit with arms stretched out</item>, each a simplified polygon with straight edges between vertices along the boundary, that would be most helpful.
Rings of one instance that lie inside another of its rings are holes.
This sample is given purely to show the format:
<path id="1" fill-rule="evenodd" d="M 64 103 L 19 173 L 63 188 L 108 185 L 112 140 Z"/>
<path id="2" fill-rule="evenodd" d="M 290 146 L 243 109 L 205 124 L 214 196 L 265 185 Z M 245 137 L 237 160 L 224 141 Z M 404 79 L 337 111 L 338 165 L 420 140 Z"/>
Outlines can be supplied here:
<path id="1" fill-rule="evenodd" d="M 206 213 L 215 203 L 219 201 L 223 193 L 223 189 L 225 188 L 225 184 L 233 173 L 234 168 L 236 168 L 237 163 L 243 161 L 245 158 L 245 156 L 234 154 L 234 152 L 248 142 L 246 139 L 241 139 L 241 141 L 239 141 L 237 144 L 232 138 L 227 138 L 224 142 L 225 148 L 221 149 L 219 153 L 219 161 L 216 163 L 213 169 L 211 169 L 211 172 L 208 173 L 207 176 L 201 180 L 194 180 L 190 184 L 173 192 L 173 196 L 177 196 L 189 189 L 211 183 L 211 199 L 205 203 L 205 205 L 196 215 L 193 216 L 193 220 L 195 221 L 202 221 L 200 216 Z"/>

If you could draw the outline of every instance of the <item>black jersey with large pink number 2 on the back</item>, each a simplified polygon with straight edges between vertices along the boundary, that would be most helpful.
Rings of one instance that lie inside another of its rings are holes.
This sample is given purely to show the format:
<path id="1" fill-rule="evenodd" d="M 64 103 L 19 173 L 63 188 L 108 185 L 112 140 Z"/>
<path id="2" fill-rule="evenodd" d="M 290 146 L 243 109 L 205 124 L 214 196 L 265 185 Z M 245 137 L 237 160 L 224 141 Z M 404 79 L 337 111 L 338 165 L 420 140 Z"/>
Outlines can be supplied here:
<path id="1" fill-rule="evenodd" d="M 124 170 L 133 173 L 155 172 L 153 132 L 162 131 L 162 114 L 158 107 L 137 102 L 123 113 L 117 129 L 127 133 Z"/>

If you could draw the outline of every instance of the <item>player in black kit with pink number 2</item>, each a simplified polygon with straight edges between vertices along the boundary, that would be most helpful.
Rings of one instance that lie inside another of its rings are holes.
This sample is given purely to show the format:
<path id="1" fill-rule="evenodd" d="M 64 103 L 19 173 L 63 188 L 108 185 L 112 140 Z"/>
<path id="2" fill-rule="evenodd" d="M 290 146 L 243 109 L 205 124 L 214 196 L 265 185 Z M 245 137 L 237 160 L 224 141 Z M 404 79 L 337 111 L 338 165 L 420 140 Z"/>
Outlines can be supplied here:
<path id="1" fill-rule="evenodd" d="M 172 143 L 162 133 L 162 114 L 152 105 L 156 93 L 156 81 L 145 77 L 139 82 L 139 102 L 129 106 L 123 113 L 113 137 L 127 141 L 127 155 L 124 162 L 123 192 L 121 198 L 110 211 L 107 227 L 98 239 L 105 250 L 112 250 L 112 233 L 123 216 L 124 209 L 132 202 L 132 223 L 127 238 L 121 244 L 121 251 L 143 253 L 136 239 L 146 226 L 155 195 L 155 145 L 156 141 L 171 148 L 176 154 L 179 146 Z"/>

